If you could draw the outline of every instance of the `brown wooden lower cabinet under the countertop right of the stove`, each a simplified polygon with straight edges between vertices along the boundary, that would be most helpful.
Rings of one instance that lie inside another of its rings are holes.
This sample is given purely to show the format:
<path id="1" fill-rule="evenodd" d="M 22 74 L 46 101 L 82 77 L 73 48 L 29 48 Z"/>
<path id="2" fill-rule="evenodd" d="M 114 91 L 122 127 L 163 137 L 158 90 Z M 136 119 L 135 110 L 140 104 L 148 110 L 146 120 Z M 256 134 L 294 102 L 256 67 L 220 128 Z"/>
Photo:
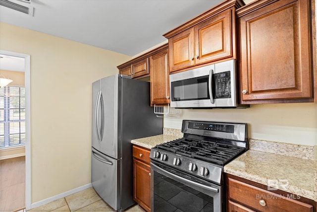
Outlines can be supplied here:
<path id="1" fill-rule="evenodd" d="M 294 194 L 226 175 L 228 212 L 315 212 L 315 202 Z"/>

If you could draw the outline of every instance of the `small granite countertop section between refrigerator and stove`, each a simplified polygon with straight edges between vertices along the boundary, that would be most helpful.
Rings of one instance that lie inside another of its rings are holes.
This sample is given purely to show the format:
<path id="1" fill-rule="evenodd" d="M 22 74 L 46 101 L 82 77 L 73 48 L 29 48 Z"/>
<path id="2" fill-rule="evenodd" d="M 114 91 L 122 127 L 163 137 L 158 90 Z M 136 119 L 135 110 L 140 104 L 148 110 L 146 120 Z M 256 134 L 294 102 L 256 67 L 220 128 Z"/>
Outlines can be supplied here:
<path id="1" fill-rule="evenodd" d="M 170 135 L 158 135 L 158 136 L 151 136 L 151 137 L 146 137 L 142 139 L 134 139 L 131 141 L 131 143 L 151 149 L 160 143 L 173 141 L 179 138 L 181 137 L 170 136 Z"/>

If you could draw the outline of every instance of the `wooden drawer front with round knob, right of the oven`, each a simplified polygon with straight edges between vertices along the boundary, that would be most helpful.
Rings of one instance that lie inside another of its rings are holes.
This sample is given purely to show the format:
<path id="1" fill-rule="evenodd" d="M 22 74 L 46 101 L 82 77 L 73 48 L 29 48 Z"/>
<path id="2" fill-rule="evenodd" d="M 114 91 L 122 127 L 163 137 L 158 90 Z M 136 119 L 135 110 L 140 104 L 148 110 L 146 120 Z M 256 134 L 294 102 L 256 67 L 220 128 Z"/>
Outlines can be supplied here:
<path id="1" fill-rule="evenodd" d="M 313 212 L 313 206 L 229 178 L 229 199 L 263 212 Z M 290 197 L 297 198 L 296 195 Z M 262 205 L 260 205 L 260 201 Z"/>

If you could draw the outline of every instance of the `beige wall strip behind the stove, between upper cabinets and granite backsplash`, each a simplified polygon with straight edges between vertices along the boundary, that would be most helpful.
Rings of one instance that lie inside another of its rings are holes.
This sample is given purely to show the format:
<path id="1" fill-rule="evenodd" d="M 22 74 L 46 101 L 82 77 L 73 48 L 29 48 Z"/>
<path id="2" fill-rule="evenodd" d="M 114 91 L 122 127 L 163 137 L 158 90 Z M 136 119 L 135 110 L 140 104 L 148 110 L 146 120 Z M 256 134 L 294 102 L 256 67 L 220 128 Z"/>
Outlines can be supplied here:
<path id="1" fill-rule="evenodd" d="M 252 139 L 317 145 L 317 103 L 251 105 L 247 109 L 183 109 L 164 118 L 165 128 L 181 129 L 183 119 L 248 123 Z"/>

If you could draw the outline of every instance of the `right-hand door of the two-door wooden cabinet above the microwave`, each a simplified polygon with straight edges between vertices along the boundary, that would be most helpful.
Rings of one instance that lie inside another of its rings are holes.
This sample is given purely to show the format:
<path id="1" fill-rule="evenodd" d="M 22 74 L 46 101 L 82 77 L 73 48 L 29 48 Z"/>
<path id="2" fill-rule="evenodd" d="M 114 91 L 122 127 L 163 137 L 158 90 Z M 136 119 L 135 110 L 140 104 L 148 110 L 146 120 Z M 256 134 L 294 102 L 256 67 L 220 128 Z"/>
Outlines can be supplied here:
<path id="1" fill-rule="evenodd" d="M 231 9 L 195 26 L 196 65 L 232 56 Z"/>

